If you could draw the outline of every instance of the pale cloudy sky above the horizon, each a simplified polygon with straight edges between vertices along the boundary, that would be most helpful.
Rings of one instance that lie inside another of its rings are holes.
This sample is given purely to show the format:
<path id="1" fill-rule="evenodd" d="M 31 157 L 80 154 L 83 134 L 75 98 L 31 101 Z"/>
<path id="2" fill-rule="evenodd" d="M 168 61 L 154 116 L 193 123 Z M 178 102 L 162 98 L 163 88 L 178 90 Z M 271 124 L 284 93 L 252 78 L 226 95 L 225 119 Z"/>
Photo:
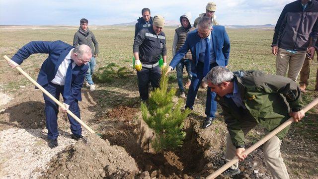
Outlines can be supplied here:
<path id="1" fill-rule="evenodd" d="M 294 0 L 214 0 L 215 15 L 223 25 L 276 24 L 287 3 Z M 0 0 L 0 25 L 112 25 L 136 21 L 141 9 L 178 21 L 191 12 L 192 24 L 205 12 L 208 0 Z"/>

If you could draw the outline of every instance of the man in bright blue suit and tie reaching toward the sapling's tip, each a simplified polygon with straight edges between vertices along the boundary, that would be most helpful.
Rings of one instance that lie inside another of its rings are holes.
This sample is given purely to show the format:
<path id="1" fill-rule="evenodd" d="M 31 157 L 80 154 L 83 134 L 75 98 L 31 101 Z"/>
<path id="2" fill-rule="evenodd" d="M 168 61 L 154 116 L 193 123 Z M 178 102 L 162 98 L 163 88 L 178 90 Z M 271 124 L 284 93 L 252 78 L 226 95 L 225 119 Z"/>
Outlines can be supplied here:
<path id="1" fill-rule="evenodd" d="M 213 26 L 212 20 L 202 17 L 197 25 L 198 29 L 188 33 L 188 37 L 173 57 L 167 73 L 173 70 L 188 50 L 192 53 L 191 74 L 192 80 L 189 88 L 185 107 L 193 109 L 194 99 L 198 92 L 200 82 L 215 66 L 226 67 L 230 55 L 230 39 L 224 26 Z M 206 120 L 203 128 L 212 124 L 217 110 L 217 102 L 214 100 L 215 92 L 207 90 L 207 102 L 205 108 Z"/>

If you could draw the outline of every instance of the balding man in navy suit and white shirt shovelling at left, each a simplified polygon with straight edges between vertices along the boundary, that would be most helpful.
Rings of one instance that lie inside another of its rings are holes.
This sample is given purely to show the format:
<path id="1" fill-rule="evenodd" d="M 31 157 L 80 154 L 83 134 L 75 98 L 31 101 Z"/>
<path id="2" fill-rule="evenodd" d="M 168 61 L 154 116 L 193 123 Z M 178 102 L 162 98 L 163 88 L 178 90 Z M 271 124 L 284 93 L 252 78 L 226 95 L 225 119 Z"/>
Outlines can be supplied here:
<path id="1" fill-rule="evenodd" d="M 64 98 L 64 109 L 70 109 L 80 118 L 79 103 L 81 100 L 80 89 L 83 86 L 84 77 L 88 70 L 87 62 L 91 58 L 91 49 L 87 45 L 73 46 L 62 41 L 45 42 L 32 41 L 24 45 L 12 57 L 9 65 L 12 68 L 20 65 L 23 60 L 36 53 L 46 53 L 49 57 L 43 62 L 37 83 L 50 92 L 58 100 L 60 94 Z M 46 128 L 48 129 L 48 144 L 50 148 L 57 147 L 59 136 L 57 115 L 59 106 L 46 94 L 45 101 Z M 82 138 L 80 124 L 70 115 L 72 137 L 76 140 Z"/>

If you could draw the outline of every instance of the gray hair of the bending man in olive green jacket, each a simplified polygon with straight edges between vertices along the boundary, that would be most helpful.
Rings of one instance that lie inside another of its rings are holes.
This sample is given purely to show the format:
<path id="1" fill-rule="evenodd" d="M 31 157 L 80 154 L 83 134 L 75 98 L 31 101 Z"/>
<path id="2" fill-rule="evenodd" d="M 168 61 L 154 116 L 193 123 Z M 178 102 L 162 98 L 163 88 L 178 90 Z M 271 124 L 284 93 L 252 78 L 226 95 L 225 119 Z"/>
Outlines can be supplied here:
<path id="1" fill-rule="evenodd" d="M 231 82 L 234 74 L 227 68 L 216 66 L 206 76 L 213 85 L 220 85 L 222 82 Z"/>

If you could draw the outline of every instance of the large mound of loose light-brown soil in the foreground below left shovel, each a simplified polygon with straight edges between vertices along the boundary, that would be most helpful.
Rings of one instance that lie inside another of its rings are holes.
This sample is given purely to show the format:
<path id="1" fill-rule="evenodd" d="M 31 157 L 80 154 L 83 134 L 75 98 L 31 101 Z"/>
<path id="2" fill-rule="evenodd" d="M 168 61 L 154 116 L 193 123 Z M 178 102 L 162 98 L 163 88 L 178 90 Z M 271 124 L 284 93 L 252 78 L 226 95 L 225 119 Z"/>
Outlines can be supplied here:
<path id="1" fill-rule="evenodd" d="M 40 179 L 103 179 L 112 176 L 125 176 L 138 172 L 134 159 L 118 146 L 95 134 L 79 140 L 67 147 L 48 164 L 49 169 Z"/>

